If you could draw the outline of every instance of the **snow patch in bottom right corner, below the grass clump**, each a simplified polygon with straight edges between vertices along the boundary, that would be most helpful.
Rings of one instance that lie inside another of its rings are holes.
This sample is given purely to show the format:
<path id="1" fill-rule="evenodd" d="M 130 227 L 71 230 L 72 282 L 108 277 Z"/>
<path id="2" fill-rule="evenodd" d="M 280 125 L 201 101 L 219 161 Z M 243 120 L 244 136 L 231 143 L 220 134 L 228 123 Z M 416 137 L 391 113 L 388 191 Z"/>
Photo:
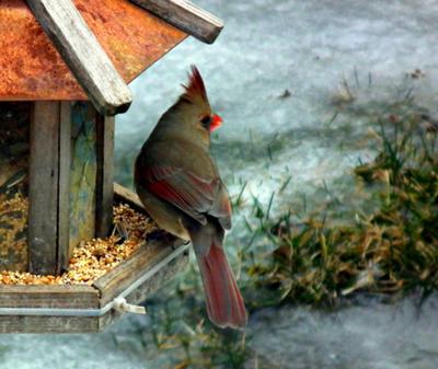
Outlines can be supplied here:
<path id="1" fill-rule="evenodd" d="M 267 310 L 254 316 L 252 347 L 276 369 L 436 369 L 437 308 L 435 298 L 423 313 L 412 300 L 332 314 Z"/>

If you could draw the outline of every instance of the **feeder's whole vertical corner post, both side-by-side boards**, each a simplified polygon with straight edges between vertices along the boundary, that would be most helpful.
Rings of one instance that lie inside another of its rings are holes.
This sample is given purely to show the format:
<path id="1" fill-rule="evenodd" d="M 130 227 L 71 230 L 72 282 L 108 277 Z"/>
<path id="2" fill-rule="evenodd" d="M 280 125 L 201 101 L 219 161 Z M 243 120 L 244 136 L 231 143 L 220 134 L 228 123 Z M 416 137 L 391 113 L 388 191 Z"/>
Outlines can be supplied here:
<path id="1" fill-rule="evenodd" d="M 28 258 L 35 274 L 61 274 L 70 260 L 71 104 L 35 102 L 28 164 Z"/>

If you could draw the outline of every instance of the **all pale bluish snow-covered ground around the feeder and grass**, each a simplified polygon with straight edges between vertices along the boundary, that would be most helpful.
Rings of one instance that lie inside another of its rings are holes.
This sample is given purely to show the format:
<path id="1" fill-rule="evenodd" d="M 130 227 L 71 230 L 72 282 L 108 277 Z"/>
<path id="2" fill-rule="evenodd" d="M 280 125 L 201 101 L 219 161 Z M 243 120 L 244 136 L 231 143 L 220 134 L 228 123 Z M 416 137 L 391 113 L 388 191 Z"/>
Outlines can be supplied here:
<path id="1" fill-rule="evenodd" d="M 191 64 L 224 119 L 214 154 L 230 193 L 247 181 L 244 195 L 266 201 L 291 176 L 279 207 L 318 194 L 324 181 L 342 195 L 339 178 L 372 154 L 358 142 L 368 123 L 364 108 L 384 113 L 410 93 L 436 113 L 438 1 L 197 3 L 221 16 L 226 28 L 212 46 L 183 43 L 131 84 L 135 103 L 116 127 L 117 180 L 125 185 L 135 153 L 176 100 Z M 415 69 L 422 76 L 413 79 Z M 354 101 L 339 109 L 333 102 L 348 97 L 344 79 Z M 249 333 L 253 348 L 279 368 L 436 369 L 436 299 L 419 315 L 408 300 L 336 314 L 264 311 Z M 147 324 L 126 316 L 99 335 L 3 335 L 0 368 L 165 368 L 145 337 Z"/>

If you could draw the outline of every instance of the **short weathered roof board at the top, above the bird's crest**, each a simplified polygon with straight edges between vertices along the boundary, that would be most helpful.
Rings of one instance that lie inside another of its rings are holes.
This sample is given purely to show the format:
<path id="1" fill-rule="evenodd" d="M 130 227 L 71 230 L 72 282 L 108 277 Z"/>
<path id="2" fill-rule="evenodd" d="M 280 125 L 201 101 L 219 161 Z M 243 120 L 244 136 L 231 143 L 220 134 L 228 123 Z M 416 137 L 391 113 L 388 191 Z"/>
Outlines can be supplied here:
<path id="1" fill-rule="evenodd" d="M 185 33 L 212 44 L 223 28 L 223 22 L 186 0 L 130 0 Z"/>

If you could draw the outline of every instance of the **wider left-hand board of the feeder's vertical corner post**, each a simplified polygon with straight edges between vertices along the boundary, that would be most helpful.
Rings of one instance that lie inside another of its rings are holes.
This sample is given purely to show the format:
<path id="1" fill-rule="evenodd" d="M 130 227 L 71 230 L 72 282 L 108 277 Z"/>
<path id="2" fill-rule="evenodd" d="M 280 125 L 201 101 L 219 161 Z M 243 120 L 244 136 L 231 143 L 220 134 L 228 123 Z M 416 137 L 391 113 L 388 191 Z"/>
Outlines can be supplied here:
<path id="1" fill-rule="evenodd" d="M 35 102 L 28 165 L 30 272 L 56 274 L 58 237 L 59 103 Z"/>

